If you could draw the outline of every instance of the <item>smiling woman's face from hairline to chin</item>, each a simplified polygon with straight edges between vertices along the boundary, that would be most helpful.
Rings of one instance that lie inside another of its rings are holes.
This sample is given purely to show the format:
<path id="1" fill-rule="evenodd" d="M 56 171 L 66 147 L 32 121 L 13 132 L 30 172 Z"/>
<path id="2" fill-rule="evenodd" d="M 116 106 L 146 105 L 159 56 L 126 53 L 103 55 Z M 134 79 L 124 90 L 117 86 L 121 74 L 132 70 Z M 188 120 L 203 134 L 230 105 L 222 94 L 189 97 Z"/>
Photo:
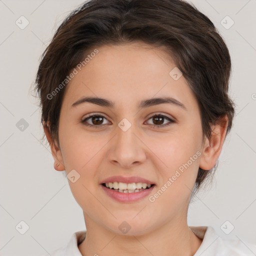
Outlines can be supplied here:
<path id="1" fill-rule="evenodd" d="M 105 45 L 67 85 L 57 157 L 85 222 L 138 235 L 186 221 L 204 145 L 198 104 L 185 78 L 169 74 L 174 67 L 159 48 Z M 121 193 L 103 187 L 109 177 L 153 185 L 139 196 Z"/>

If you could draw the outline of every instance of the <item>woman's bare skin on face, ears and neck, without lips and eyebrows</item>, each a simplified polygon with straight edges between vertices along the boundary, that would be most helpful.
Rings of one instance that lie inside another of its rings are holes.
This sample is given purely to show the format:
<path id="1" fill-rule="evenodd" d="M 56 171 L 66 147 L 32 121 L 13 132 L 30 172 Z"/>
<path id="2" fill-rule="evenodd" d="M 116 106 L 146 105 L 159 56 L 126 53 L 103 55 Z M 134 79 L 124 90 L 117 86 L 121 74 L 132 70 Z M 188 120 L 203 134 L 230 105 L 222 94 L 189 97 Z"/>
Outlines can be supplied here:
<path id="1" fill-rule="evenodd" d="M 86 256 L 193 255 L 202 240 L 187 225 L 189 198 L 198 167 L 207 170 L 216 163 L 227 120 L 212 127 L 211 141 L 203 137 L 198 103 L 183 76 L 170 77 L 175 64 L 162 48 L 134 42 L 98 50 L 66 87 L 59 147 L 44 127 L 54 168 L 80 174 L 74 183 L 68 179 L 87 229 L 78 248 Z M 89 102 L 71 107 L 82 96 L 107 98 L 115 107 Z M 186 109 L 169 103 L 136 107 L 139 100 L 161 96 L 177 99 Z M 99 128 L 81 122 L 91 113 L 105 117 L 101 122 L 87 120 Z M 160 127 L 169 120 L 149 118 L 154 113 L 175 122 Z M 127 131 L 117 125 L 122 118 L 131 123 Z M 196 151 L 201 155 L 154 202 L 148 196 L 132 203 L 117 202 L 100 187 L 100 181 L 112 175 L 140 176 L 156 184 L 153 195 Z M 123 221 L 131 227 L 126 234 L 118 228 Z"/>

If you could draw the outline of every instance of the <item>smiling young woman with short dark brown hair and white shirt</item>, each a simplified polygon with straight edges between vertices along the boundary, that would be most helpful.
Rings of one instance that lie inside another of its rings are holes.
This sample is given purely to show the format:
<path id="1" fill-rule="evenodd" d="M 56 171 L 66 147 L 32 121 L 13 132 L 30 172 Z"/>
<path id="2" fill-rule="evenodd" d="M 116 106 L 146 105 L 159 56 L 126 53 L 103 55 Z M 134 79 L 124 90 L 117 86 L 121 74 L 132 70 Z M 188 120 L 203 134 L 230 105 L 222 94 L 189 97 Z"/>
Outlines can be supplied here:
<path id="1" fill-rule="evenodd" d="M 213 23 L 185 1 L 90 0 L 66 17 L 36 89 L 86 232 L 51 255 L 250 255 L 187 225 L 231 128 L 230 68 Z"/>

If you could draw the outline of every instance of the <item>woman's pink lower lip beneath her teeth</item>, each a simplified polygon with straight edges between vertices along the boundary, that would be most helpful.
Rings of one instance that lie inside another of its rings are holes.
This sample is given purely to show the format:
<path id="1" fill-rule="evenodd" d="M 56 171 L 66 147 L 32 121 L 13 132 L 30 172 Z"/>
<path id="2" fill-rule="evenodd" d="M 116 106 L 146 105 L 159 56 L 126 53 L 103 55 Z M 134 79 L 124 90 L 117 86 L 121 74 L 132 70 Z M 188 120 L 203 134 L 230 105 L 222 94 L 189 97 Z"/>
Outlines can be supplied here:
<path id="1" fill-rule="evenodd" d="M 149 188 L 144 189 L 142 191 L 133 192 L 133 193 L 121 193 L 118 191 L 114 191 L 113 189 L 107 188 L 102 184 L 100 184 L 100 186 L 107 193 L 107 195 L 109 195 L 111 198 L 119 202 L 134 202 L 147 196 L 154 189 L 155 185 L 152 185 Z"/>

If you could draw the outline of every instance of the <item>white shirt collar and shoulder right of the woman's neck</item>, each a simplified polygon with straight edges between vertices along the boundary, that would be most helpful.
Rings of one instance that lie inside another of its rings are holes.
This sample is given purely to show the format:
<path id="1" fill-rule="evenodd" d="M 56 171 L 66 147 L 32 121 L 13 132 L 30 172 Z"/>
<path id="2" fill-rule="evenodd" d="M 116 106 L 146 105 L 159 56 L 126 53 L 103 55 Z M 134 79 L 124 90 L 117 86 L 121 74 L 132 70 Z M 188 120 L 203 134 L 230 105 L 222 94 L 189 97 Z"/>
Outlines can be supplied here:
<path id="1" fill-rule="evenodd" d="M 239 238 L 229 239 L 219 236 L 211 226 L 190 227 L 195 234 L 200 234 L 202 243 L 194 256 L 252 256 L 256 253 L 256 244 Z M 203 234 L 204 233 L 204 234 Z M 198 236 L 198 235 L 197 235 Z"/>

